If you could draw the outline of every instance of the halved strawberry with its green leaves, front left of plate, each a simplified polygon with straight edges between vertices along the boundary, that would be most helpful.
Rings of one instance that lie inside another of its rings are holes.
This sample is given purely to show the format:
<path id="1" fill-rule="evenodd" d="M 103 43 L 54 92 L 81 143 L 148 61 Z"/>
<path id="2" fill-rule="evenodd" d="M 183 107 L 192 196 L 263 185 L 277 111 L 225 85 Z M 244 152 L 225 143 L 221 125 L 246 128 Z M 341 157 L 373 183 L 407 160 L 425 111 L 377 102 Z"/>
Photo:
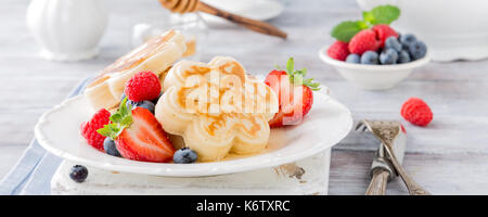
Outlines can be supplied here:
<path id="1" fill-rule="evenodd" d="M 113 138 L 118 152 L 125 158 L 170 162 L 176 150 L 156 117 L 143 107 L 127 108 L 126 100 L 111 116 L 113 124 L 105 125 L 99 132 Z"/>

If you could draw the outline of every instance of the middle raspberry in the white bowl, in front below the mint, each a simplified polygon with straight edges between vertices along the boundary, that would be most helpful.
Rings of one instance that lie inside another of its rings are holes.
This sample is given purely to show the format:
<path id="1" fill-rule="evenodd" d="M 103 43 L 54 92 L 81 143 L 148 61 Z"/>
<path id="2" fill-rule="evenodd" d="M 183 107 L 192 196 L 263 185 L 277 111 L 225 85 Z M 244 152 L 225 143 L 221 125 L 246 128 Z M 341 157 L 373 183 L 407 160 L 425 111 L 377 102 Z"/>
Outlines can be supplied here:
<path id="1" fill-rule="evenodd" d="M 367 51 L 376 51 L 381 41 L 376 39 L 376 34 L 371 29 L 364 29 L 356 34 L 349 41 L 349 51 L 361 55 Z"/>

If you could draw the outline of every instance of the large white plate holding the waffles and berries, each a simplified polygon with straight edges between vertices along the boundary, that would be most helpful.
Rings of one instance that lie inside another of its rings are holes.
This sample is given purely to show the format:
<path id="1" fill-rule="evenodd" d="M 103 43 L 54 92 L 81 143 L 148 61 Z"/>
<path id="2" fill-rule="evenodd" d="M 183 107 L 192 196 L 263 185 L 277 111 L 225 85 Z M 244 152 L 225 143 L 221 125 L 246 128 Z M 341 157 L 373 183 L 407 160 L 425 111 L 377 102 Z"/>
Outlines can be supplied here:
<path id="1" fill-rule="evenodd" d="M 271 130 L 268 152 L 217 163 L 145 163 L 97 151 L 79 133 L 80 123 L 88 120 L 93 113 L 84 95 L 68 99 L 44 113 L 35 133 L 39 143 L 52 154 L 102 169 L 169 177 L 233 174 L 292 163 L 344 139 L 352 127 L 349 110 L 321 92 L 314 93 L 313 101 L 312 110 L 300 125 Z"/>

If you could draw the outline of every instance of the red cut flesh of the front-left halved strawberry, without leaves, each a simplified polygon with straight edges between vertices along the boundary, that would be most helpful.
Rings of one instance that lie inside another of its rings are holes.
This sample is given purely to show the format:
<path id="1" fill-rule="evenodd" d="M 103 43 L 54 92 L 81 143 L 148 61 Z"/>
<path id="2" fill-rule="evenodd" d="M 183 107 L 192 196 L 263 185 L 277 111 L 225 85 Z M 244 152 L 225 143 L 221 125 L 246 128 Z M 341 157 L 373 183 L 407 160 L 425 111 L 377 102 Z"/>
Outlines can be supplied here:
<path id="1" fill-rule="evenodd" d="M 116 145 L 125 158 L 142 162 L 169 162 L 176 151 L 154 115 L 142 107 L 132 110 L 132 124 L 117 137 Z"/>

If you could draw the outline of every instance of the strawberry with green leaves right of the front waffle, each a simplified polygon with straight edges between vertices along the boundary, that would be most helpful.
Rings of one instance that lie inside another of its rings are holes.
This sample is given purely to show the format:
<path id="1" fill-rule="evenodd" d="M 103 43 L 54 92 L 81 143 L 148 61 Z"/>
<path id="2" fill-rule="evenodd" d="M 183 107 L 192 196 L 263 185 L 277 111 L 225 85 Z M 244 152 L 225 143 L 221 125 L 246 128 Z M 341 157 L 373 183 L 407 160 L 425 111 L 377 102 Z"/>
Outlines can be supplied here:
<path id="1" fill-rule="evenodd" d="M 304 79 L 307 69 L 294 71 L 291 58 L 286 71 L 272 71 L 265 79 L 280 101 L 279 112 L 269 122 L 270 127 L 296 125 L 308 114 L 313 104 L 312 90 L 319 90 L 320 84 L 313 78 Z"/>

